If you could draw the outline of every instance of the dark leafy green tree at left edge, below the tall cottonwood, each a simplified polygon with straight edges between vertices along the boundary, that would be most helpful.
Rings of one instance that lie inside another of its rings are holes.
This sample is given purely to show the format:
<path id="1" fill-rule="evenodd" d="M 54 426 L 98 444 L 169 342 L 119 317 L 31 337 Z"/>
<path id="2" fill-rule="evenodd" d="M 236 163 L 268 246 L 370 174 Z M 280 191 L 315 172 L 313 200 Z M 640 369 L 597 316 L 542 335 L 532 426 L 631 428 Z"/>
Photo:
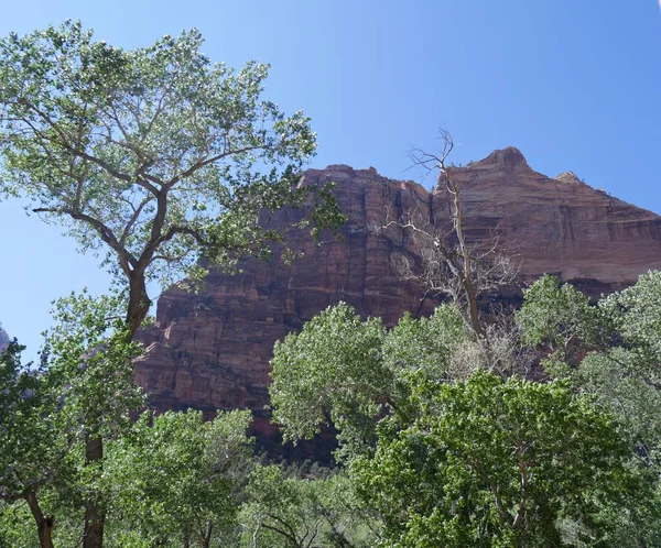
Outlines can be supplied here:
<path id="1" fill-rule="evenodd" d="M 53 546 L 55 515 L 97 490 L 86 441 L 124 432 L 142 403 L 131 364 L 140 349 L 127 342 L 118 304 L 86 294 L 58 300 L 36 370 L 21 365 L 15 342 L 0 354 L 0 498 L 26 502 L 42 547 Z"/>

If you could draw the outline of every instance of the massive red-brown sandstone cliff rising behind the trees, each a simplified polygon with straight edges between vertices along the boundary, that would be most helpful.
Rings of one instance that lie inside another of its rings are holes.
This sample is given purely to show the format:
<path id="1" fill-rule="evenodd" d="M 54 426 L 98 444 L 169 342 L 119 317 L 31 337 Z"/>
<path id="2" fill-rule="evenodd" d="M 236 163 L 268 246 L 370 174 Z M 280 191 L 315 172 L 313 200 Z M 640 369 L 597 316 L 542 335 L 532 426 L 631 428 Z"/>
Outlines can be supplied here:
<path id="1" fill-rule="evenodd" d="M 546 177 L 510 147 L 456 167 L 454 175 L 463 188 L 468 240 L 497 233 L 519 255 L 523 281 L 554 273 L 598 295 L 661 268 L 661 217 L 595 190 L 571 172 Z M 317 246 L 301 235 L 305 255 L 291 266 L 251 261 L 241 274 L 213 272 L 198 295 L 165 292 L 156 326 L 143 333 L 149 348 L 137 369 L 138 382 L 161 408 L 248 407 L 261 415 L 257 428 L 273 434 L 263 407 L 274 341 L 339 300 L 390 325 L 405 310 L 432 311 L 436 303 L 421 300 L 424 288 L 402 282 L 393 266 L 410 246 L 407 235 L 395 227 L 381 233 L 370 227 L 384 224 L 387 209 L 397 217 L 412 208 L 442 226 L 449 220 L 446 190 L 429 193 L 373 168 L 344 165 L 311 169 L 305 180 L 337 183 L 349 218 L 343 241 L 330 238 Z M 300 217 L 284 212 L 275 222 Z"/>

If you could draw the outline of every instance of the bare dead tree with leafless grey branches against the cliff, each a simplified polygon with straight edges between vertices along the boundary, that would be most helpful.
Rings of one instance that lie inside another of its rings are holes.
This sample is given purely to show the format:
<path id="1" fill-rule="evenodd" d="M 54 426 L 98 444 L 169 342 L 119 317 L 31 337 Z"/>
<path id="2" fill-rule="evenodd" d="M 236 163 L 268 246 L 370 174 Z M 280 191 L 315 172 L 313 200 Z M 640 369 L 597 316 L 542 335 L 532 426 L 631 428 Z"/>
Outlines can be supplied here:
<path id="1" fill-rule="evenodd" d="M 388 208 L 381 230 L 395 227 L 408 234 L 419 253 L 422 272 L 405 254 L 395 256 L 395 268 L 402 277 L 422 281 L 427 287 L 425 296 L 448 296 L 458 306 L 487 362 L 495 365 L 497 358 L 489 343 L 492 329 L 487 329 L 483 321 L 478 297 L 516 283 L 519 268 L 512 255 L 506 252 L 497 231 L 485 241 L 467 242 L 462 188 L 453 175 L 453 167 L 447 164 L 454 140 L 447 130 L 440 129 L 438 132 L 442 146 L 436 153 L 413 149 L 410 157 L 412 167 L 422 167 L 427 174 L 438 171 L 437 188 L 445 188 L 451 197 L 449 221 L 441 222 L 433 212 L 420 208 L 393 219 Z"/>

